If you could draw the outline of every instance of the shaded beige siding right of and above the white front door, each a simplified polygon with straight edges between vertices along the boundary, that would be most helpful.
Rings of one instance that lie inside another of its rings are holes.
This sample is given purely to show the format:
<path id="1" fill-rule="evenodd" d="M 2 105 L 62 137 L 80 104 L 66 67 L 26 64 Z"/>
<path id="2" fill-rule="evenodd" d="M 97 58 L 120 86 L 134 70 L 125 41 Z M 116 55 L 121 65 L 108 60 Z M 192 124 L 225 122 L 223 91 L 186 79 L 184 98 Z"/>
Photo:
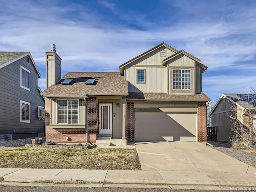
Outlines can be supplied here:
<path id="1" fill-rule="evenodd" d="M 113 104 L 113 139 L 122 139 L 122 99 L 100 99 L 99 103 Z M 119 107 L 117 104 L 119 103 Z"/>

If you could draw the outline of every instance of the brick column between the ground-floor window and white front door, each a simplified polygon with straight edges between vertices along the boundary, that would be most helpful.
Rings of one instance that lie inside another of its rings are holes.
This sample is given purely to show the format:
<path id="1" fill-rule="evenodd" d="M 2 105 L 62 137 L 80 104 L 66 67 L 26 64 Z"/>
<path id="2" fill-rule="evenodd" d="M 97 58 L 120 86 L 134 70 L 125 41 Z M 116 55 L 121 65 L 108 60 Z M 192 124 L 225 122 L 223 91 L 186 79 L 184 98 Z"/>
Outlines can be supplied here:
<path id="1" fill-rule="evenodd" d="M 88 104 L 88 140 L 95 143 L 99 134 L 99 102 L 96 97 L 89 97 L 86 102 Z"/>

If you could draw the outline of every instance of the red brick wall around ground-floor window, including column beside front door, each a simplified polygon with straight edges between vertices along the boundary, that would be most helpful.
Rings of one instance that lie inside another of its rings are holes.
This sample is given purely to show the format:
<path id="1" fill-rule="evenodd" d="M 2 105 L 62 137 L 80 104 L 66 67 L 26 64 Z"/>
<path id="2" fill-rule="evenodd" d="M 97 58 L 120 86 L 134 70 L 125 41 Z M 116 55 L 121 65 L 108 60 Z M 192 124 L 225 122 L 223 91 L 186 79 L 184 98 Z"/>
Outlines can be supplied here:
<path id="1" fill-rule="evenodd" d="M 88 141 L 95 143 L 98 134 L 98 100 L 88 98 Z M 50 100 L 45 98 L 45 137 L 56 143 L 85 143 L 86 128 L 50 128 Z M 69 137 L 69 140 L 66 140 Z"/>

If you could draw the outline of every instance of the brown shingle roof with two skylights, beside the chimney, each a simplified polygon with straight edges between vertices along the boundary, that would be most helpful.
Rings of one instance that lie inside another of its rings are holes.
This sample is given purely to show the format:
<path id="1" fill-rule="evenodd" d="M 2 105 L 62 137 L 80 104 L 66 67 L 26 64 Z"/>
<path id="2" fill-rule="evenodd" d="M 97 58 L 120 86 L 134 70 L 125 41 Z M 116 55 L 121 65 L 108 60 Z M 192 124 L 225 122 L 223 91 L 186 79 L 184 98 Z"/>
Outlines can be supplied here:
<path id="1" fill-rule="evenodd" d="M 96 79 L 93 85 L 86 85 L 88 79 Z M 73 79 L 69 85 L 61 84 Z M 84 98 L 87 95 L 128 95 L 128 82 L 119 72 L 68 72 L 57 84 L 51 85 L 40 95 L 48 98 Z"/>

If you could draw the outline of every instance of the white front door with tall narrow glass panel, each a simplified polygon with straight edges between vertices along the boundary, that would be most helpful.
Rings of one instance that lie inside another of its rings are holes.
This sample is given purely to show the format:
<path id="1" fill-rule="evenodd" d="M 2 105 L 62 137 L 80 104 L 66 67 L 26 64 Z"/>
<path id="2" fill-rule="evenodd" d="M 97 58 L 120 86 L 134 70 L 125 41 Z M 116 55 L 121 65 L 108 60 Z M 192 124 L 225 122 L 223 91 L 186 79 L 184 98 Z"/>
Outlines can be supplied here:
<path id="1" fill-rule="evenodd" d="M 112 103 L 99 104 L 99 134 L 112 134 Z"/>

